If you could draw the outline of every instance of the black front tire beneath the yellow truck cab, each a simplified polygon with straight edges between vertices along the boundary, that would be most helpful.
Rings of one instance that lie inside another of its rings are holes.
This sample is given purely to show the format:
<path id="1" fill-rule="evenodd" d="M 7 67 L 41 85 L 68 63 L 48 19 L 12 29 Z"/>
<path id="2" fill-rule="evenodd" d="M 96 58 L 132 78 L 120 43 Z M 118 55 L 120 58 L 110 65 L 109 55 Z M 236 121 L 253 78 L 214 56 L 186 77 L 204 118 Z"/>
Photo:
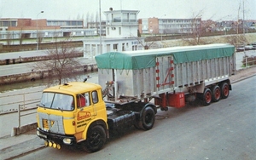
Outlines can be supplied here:
<path id="1" fill-rule="evenodd" d="M 106 142 L 106 133 L 102 126 L 96 125 L 88 130 L 82 149 L 87 152 L 100 151 Z"/>

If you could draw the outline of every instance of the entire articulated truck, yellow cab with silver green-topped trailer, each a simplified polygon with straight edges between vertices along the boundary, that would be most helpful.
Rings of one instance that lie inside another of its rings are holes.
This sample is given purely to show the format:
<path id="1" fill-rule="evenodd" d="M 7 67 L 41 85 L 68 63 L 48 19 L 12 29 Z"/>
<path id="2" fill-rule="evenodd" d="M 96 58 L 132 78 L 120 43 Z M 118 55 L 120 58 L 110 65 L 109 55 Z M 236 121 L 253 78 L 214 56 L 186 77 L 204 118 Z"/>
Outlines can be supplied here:
<path id="1" fill-rule="evenodd" d="M 201 100 L 226 99 L 236 71 L 235 47 L 208 44 L 108 52 L 95 57 L 98 83 L 64 83 L 44 89 L 37 134 L 45 146 L 99 151 L 110 131 L 152 129 L 157 110 Z"/>

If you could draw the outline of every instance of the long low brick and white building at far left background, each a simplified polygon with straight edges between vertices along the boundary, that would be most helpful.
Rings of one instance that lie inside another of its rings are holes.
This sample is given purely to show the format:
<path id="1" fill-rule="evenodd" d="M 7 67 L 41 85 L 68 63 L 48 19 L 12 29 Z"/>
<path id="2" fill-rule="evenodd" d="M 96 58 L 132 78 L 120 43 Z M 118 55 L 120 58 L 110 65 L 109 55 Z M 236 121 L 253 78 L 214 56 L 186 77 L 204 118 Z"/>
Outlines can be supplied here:
<path id="1" fill-rule="evenodd" d="M 84 37 L 95 36 L 96 29 L 84 28 L 84 20 L 0 19 L 0 39 L 20 37 Z"/>

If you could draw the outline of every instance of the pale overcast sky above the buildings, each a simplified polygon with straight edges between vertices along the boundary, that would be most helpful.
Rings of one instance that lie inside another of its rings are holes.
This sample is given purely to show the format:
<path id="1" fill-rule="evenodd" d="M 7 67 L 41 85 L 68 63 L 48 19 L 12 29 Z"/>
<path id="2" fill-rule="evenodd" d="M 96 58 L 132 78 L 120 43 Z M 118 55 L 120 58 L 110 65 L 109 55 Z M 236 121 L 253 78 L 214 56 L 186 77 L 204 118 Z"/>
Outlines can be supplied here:
<path id="1" fill-rule="evenodd" d="M 256 0 L 101 0 L 101 9 L 108 11 L 139 10 L 139 18 L 193 18 L 202 20 L 256 20 Z M 239 9 L 241 6 L 241 9 Z M 38 14 L 44 10 L 44 14 Z M 240 12 L 239 12 L 240 11 Z M 0 18 L 31 18 L 48 20 L 85 19 L 86 14 L 99 12 L 99 0 L 0 0 Z M 102 20 L 105 15 L 102 14 Z"/>

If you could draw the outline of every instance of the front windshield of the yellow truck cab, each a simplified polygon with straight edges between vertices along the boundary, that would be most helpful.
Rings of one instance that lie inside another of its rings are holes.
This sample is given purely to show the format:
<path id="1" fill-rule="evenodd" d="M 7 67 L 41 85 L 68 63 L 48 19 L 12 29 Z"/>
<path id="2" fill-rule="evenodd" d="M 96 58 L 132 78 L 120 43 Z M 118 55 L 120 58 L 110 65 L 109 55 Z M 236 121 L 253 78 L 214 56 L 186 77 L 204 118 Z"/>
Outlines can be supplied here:
<path id="1" fill-rule="evenodd" d="M 73 96 L 44 92 L 39 106 L 61 111 L 73 111 Z"/>

